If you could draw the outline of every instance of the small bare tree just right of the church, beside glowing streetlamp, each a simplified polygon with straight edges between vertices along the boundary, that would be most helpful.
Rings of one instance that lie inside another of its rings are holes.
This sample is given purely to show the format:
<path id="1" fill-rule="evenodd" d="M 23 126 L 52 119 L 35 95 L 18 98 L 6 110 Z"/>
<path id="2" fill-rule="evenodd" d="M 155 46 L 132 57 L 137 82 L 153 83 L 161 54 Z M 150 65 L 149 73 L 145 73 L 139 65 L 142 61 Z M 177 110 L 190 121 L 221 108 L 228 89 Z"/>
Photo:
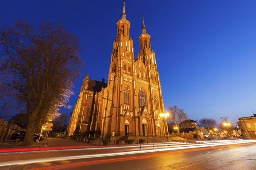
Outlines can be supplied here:
<path id="1" fill-rule="evenodd" d="M 175 123 L 178 130 L 178 136 L 180 136 L 180 122 L 188 119 L 187 114 L 183 111 L 183 109 L 178 108 L 177 105 L 169 106 L 167 108 L 167 112 L 170 113 L 169 120 Z"/>

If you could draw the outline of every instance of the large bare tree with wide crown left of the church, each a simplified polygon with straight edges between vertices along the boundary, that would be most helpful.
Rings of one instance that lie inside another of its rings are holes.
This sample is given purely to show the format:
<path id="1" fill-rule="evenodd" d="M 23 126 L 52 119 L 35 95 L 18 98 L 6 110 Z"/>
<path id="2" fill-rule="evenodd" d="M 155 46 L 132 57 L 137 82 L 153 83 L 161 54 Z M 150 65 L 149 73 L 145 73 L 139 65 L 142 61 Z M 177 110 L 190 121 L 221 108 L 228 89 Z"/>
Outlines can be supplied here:
<path id="1" fill-rule="evenodd" d="M 45 21 L 36 28 L 16 21 L 0 28 L 0 46 L 17 100 L 26 105 L 29 123 L 23 144 L 30 144 L 45 116 L 55 116 L 59 107 L 69 108 L 73 81 L 82 66 L 78 39 L 59 24 Z"/>

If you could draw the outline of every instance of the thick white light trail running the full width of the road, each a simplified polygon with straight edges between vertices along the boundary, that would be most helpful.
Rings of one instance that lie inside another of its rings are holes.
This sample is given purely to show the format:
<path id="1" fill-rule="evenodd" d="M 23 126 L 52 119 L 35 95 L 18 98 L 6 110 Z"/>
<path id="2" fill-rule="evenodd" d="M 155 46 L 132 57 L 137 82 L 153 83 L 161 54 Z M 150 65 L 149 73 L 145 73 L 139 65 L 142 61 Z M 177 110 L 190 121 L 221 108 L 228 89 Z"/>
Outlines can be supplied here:
<path id="1" fill-rule="evenodd" d="M 33 160 L 19 160 L 19 161 L 9 161 L 0 163 L 0 166 L 10 166 L 17 164 L 32 164 L 38 162 L 50 162 L 50 161 L 62 161 L 62 160 L 74 160 L 74 159 L 88 159 L 88 158 L 98 158 L 98 157 L 107 157 L 107 156 L 122 156 L 129 154 L 139 154 L 139 153 L 151 153 L 151 152 L 161 152 L 169 150 L 180 150 L 180 149 L 192 149 L 200 147 L 209 147 L 209 146 L 224 146 L 231 144 L 246 144 L 246 143 L 256 143 L 253 140 L 246 140 L 241 142 L 224 142 L 224 143 L 215 143 L 215 144 L 192 144 L 192 146 L 183 146 L 183 147 L 172 147 L 172 148 L 162 148 L 162 149 L 150 149 L 150 150 L 137 150 L 137 151 L 127 151 L 127 152 L 117 152 L 117 153 L 104 153 L 104 154 L 93 154 L 93 155 L 80 155 L 80 156 L 62 156 L 58 158 L 44 158 L 44 159 L 33 159 Z"/>

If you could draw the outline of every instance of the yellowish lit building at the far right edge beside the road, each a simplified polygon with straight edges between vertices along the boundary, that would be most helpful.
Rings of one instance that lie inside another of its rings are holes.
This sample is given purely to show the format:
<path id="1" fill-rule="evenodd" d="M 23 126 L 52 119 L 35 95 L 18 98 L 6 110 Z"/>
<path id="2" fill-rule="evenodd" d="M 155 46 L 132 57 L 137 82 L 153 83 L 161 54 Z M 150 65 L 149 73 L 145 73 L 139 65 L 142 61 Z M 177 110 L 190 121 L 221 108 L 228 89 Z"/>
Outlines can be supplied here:
<path id="1" fill-rule="evenodd" d="M 237 125 L 244 138 L 256 139 L 256 114 L 250 117 L 240 117 Z"/>

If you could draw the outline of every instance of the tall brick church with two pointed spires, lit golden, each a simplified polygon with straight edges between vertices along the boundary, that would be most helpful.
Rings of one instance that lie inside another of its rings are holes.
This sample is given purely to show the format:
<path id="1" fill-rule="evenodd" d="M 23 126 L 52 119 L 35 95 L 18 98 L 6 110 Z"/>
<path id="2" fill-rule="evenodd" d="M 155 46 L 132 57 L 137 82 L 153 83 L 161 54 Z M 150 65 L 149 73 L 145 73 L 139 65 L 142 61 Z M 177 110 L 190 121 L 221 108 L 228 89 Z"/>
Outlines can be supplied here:
<path id="1" fill-rule="evenodd" d="M 130 22 L 126 20 L 125 3 L 121 19 L 116 23 L 108 84 L 84 77 L 78 101 L 68 126 L 68 135 L 77 126 L 81 132 L 97 130 L 101 137 L 110 136 L 166 136 L 157 60 L 151 50 L 151 36 L 147 34 L 142 17 L 140 51 L 134 59 Z M 91 84 L 93 83 L 93 85 Z"/>

